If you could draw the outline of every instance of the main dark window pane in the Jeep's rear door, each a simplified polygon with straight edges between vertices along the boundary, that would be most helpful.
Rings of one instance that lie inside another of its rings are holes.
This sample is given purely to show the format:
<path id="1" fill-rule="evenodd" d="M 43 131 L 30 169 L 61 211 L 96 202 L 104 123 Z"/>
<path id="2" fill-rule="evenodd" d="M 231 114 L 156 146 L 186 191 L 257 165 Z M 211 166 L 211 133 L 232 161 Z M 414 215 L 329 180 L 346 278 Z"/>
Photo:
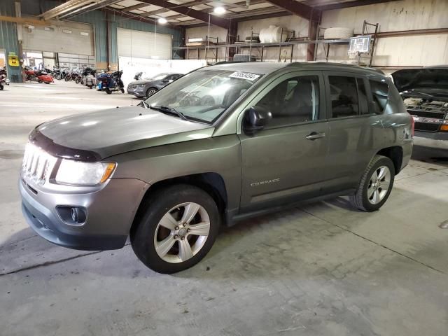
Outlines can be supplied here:
<path id="1" fill-rule="evenodd" d="M 332 118 L 358 116 L 360 107 L 356 78 L 329 76 Z"/>

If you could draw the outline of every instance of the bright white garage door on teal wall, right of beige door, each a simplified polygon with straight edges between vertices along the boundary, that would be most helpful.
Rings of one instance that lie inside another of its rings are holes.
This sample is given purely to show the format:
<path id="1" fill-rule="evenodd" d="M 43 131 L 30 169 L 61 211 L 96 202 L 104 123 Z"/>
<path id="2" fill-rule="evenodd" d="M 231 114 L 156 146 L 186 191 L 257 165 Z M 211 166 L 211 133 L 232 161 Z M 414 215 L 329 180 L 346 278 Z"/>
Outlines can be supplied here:
<path id="1" fill-rule="evenodd" d="M 172 59 L 172 35 L 117 29 L 118 57 Z"/>

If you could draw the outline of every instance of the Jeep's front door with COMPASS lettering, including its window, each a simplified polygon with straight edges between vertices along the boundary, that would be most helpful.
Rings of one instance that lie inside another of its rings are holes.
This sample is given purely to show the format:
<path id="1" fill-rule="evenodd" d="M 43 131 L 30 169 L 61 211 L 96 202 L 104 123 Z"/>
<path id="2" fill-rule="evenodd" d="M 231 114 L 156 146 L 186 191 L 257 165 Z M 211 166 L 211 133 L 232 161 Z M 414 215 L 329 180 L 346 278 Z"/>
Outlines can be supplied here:
<path id="1" fill-rule="evenodd" d="M 329 134 L 324 94 L 319 71 L 300 71 L 277 78 L 249 104 L 270 111 L 272 120 L 255 134 L 239 134 L 241 212 L 322 193 Z"/>

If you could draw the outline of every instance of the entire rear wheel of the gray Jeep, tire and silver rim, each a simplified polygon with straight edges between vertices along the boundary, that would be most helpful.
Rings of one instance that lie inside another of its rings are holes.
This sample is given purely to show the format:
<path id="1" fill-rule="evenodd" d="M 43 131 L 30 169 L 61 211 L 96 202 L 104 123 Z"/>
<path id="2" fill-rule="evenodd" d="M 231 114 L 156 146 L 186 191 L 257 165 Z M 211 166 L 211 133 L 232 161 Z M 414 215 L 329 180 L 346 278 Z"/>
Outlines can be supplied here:
<path id="1" fill-rule="evenodd" d="M 362 211 L 377 211 L 391 195 L 395 167 L 391 159 L 375 155 L 359 182 L 351 203 Z"/>

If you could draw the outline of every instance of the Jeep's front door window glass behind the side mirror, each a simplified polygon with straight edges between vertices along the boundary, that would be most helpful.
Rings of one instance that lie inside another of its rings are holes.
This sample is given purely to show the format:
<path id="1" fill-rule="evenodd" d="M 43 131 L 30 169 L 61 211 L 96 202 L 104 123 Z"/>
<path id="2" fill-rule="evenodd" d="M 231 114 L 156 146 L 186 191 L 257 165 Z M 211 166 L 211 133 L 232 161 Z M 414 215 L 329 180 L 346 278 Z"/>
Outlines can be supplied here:
<path id="1" fill-rule="evenodd" d="M 318 120 L 319 78 L 298 76 L 283 80 L 257 106 L 272 113 L 267 129 Z"/>

